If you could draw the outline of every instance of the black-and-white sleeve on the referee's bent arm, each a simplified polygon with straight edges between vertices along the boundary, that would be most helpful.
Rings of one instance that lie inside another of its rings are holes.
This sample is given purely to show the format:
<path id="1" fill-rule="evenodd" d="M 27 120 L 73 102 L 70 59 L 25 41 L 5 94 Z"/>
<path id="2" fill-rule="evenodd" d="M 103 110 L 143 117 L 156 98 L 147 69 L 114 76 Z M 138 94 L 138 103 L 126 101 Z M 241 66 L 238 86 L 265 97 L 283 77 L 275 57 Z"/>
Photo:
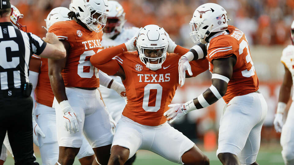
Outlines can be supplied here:
<path id="1" fill-rule="evenodd" d="M 29 38 L 30 38 L 30 44 L 32 47 L 32 52 L 36 55 L 40 55 L 43 50 L 45 49 L 47 43 L 44 42 L 40 37 L 32 34 L 32 33 L 27 33 Z"/>

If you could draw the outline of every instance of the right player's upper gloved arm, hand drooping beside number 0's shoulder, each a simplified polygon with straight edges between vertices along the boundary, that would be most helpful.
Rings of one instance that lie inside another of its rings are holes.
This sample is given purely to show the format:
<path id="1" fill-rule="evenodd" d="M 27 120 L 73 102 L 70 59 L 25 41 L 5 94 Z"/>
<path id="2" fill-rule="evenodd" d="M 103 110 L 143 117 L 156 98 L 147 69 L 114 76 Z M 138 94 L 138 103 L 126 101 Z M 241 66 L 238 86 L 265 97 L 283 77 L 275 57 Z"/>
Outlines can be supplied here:
<path id="1" fill-rule="evenodd" d="M 185 51 L 185 48 L 178 48 L 177 51 Z M 193 46 L 186 54 L 184 54 L 179 59 L 179 84 L 181 87 L 185 83 L 186 70 L 189 75 L 192 76 L 191 66 L 189 61 L 199 60 L 205 58 L 207 55 L 207 50 L 204 44 L 199 43 L 198 45 Z"/>

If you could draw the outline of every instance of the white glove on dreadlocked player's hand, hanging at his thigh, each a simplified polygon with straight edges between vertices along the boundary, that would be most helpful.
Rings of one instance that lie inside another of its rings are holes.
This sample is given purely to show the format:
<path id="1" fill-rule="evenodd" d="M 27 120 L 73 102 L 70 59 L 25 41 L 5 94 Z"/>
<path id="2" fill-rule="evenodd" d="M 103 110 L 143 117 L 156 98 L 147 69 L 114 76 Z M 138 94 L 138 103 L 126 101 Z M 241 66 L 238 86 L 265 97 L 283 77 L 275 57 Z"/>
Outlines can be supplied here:
<path id="1" fill-rule="evenodd" d="M 82 123 L 82 120 L 71 108 L 68 100 L 61 101 L 59 105 L 62 108 L 65 129 L 69 131 L 70 134 L 72 133 L 72 131 L 74 133 L 79 132 L 79 124 L 77 123 L 77 121 Z"/>

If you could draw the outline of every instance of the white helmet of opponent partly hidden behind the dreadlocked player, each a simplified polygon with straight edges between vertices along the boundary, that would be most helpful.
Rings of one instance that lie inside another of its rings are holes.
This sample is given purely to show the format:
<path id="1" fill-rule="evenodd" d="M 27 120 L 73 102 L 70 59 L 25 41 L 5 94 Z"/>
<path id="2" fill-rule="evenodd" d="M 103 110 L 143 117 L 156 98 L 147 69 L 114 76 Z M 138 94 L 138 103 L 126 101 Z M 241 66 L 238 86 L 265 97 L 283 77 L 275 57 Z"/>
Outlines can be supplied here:
<path id="1" fill-rule="evenodd" d="M 126 13 L 123 10 L 123 6 L 116 1 L 108 1 L 109 15 L 107 17 L 107 23 L 103 29 L 103 35 L 107 38 L 111 38 L 119 34 L 123 25 L 126 23 Z"/>

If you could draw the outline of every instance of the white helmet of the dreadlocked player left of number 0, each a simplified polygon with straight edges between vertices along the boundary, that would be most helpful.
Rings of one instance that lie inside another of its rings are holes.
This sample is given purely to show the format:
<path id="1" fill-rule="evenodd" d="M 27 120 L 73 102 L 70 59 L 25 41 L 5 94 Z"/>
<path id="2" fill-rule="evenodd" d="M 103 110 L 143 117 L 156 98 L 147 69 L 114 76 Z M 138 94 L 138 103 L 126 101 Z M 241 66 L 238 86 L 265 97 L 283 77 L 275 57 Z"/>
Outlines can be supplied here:
<path id="1" fill-rule="evenodd" d="M 70 10 L 89 30 L 96 32 L 104 28 L 109 13 L 107 0 L 72 0 Z"/>

